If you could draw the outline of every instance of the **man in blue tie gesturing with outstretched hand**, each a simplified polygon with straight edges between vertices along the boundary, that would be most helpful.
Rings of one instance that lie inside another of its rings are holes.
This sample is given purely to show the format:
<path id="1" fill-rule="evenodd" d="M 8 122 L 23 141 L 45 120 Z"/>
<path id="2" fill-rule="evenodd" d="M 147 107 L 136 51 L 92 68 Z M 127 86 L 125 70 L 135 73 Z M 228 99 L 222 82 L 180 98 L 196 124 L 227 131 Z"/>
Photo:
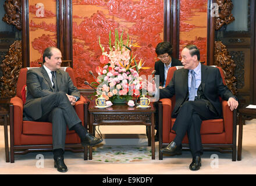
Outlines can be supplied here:
<path id="1" fill-rule="evenodd" d="M 195 45 L 188 45 L 182 51 L 184 69 L 175 71 L 168 86 L 159 89 L 159 92 L 155 85 L 148 86 L 148 91 L 158 94 L 159 98 L 171 98 L 176 95 L 175 108 L 172 112 L 172 117 L 176 118 L 172 128 L 176 132 L 176 137 L 161 151 L 170 155 L 182 154 L 182 140 L 187 133 L 193 156 L 190 170 L 199 170 L 201 166 L 202 120 L 222 117 L 219 96 L 227 100 L 230 110 L 238 106 L 237 98 L 223 85 L 219 69 L 201 65 L 199 60 L 198 48 Z"/>

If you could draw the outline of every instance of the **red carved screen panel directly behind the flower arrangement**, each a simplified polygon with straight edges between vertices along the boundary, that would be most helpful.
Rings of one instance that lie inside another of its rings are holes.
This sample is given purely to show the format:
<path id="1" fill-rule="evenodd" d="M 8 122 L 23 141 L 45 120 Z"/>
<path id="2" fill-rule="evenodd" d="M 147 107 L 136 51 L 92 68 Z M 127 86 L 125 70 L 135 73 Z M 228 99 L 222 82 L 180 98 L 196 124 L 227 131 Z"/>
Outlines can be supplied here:
<path id="1" fill-rule="evenodd" d="M 73 69 L 77 87 L 90 88 L 83 84 L 95 81 L 88 73 L 99 65 L 101 44 L 108 51 L 109 31 L 112 32 L 112 43 L 115 41 L 115 29 L 123 33 L 123 39 L 133 38 L 141 48 L 134 49 L 137 59 L 143 58 L 141 74 L 151 74 L 154 70 L 155 47 L 163 41 L 163 0 L 110 0 L 110 1 L 72 1 L 73 12 Z"/>

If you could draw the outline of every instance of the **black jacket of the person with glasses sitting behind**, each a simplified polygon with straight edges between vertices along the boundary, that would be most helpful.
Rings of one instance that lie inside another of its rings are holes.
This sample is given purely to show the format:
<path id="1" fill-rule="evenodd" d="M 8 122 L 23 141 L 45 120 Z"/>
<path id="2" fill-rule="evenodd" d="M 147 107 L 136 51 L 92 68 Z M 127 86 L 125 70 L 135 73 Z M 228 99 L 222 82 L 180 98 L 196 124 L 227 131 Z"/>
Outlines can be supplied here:
<path id="1" fill-rule="evenodd" d="M 155 62 L 155 75 L 159 75 L 159 86 L 163 86 L 163 83 L 165 83 L 165 64 L 161 62 L 161 60 L 158 60 Z M 180 60 L 172 58 L 172 64 L 171 66 L 182 66 L 182 62 Z"/>

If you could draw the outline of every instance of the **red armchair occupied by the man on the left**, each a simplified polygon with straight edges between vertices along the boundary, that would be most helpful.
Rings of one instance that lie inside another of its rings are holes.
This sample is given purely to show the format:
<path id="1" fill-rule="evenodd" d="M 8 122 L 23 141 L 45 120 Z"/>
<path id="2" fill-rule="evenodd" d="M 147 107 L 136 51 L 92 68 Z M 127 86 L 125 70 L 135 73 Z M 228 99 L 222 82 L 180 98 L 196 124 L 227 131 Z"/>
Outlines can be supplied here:
<path id="1" fill-rule="evenodd" d="M 62 67 L 71 77 L 76 86 L 73 69 Z M 48 122 L 23 121 L 23 89 L 27 80 L 27 68 L 20 70 L 17 80 L 16 96 L 10 99 L 10 163 L 15 162 L 15 154 L 24 154 L 34 151 L 52 150 L 52 124 Z M 82 124 L 87 127 L 88 102 L 83 96 L 74 105 Z M 84 160 L 87 160 L 88 149 L 80 144 L 80 138 L 74 131 L 67 130 L 66 150 L 72 152 L 84 152 Z"/>

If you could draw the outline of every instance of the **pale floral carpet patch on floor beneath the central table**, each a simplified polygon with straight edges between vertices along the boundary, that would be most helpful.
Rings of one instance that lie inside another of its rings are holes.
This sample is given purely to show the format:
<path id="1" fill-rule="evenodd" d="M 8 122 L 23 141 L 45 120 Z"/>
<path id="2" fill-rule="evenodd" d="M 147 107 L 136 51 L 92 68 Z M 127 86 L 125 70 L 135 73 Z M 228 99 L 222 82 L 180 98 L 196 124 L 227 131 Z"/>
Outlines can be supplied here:
<path id="1" fill-rule="evenodd" d="M 151 146 L 99 146 L 93 148 L 93 162 L 129 163 L 151 159 Z"/>

